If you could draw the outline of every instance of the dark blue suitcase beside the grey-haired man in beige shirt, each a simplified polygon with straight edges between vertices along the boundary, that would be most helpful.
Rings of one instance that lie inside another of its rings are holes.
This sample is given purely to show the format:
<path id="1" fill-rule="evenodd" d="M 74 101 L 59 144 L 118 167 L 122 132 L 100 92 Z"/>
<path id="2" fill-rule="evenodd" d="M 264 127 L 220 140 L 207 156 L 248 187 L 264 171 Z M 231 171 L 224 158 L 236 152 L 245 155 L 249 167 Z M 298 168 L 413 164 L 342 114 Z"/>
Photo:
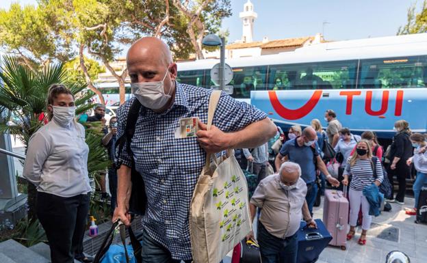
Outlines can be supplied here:
<path id="1" fill-rule="evenodd" d="M 320 253 L 332 240 L 322 220 L 315 219 L 318 228 L 309 228 L 305 221 L 301 221 L 297 232 L 298 255 L 297 263 L 313 263 L 318 261 Z"/>

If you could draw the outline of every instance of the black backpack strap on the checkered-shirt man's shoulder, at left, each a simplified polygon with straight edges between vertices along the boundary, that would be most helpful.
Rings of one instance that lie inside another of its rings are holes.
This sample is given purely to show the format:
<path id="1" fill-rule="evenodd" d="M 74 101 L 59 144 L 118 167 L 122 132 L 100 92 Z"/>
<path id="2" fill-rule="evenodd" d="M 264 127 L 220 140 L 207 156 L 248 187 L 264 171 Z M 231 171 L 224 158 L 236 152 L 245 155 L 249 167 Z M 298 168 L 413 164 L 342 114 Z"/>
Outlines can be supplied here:
<path id="1" fill-rule="evenodd" d="M 129 112 L 127 113 L 127 121 L 125 126 L 125 132 L 123 133 L 120 138 L 118 138 L 118 143 L 116 144 L 116 147 L 118 147 L 118 156 L 116 156 L 116 160 L 120 158 L 120 155 L 122 154 L 123 147 L 127 146 L 127 153 L 129 156 L 133 156 L 132 150 L 131 150 L 131 141 L 133 138 L 133 135 L 135 134 L 135 124 L 138 120 L 138 115 L 140 113 L 141 109 L 141 103 L 139 100 L 133 100 L 132 105 L 129 109 Z M 135 165 L 133 158 L 131 158 L 132 166 Z M 121 163 L 116 165 L 116 169 L 120 168 Z"/>

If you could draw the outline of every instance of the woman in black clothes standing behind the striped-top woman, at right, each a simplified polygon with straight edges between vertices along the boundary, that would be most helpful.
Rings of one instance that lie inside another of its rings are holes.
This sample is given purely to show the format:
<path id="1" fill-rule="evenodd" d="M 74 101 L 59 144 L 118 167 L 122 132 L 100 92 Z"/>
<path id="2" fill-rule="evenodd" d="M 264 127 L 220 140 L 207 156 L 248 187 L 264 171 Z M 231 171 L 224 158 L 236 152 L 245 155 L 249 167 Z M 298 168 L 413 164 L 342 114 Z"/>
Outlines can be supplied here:
<path id="1" fill-rule="evenodd" d="M 391 143 L 390 154 L 387 156 L 391 163 L 387 167 L 387 173 L 389 181 L 393 185 L 393 177 L 396 176 L 398 179 L 398 194 L 396 199 L 387 199 L 387 202 L 396 202 L 398 204 L 404 204 L 404 195 L 406 190 L 406 178 L 409 178 L 411 169 L 406 165 L 406 160 L 413 154 L 413 147 L 411 143 L 411 130 L 409 129 L 409 123 L 406 120 L 398 120 L 395 122 L 394 127 L 396 135 L 393 137 L 393 143 Z M 394 188 L 391 188 L 391 196 L 394 196 Z"/>

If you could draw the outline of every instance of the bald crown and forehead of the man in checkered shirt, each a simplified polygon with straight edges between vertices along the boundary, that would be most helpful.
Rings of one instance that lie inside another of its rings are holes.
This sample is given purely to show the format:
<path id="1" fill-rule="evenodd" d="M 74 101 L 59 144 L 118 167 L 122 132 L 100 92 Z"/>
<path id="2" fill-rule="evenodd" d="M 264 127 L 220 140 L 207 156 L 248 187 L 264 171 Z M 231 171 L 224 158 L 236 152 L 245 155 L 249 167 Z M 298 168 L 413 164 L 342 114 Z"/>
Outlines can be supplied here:
<path id="1" fill-rule="evenodd" d="M 169 46 L 155 37 L 144 37 L 132 44 L 127 51 L 126 61 L 129 64 L 158 60 L 165 66 L 172 63 L 172 53 Z"/>

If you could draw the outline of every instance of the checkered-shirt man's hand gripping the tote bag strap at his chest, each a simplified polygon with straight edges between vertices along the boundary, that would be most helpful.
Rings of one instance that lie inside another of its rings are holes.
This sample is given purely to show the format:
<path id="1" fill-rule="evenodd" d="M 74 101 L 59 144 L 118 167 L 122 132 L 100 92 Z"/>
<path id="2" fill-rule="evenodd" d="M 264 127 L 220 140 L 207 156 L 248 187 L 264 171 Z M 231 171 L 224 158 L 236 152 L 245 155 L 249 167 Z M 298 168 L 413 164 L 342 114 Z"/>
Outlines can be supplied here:
<path id="1" fill-rule="evenodd" d="M 197 141 L 206 152 L 216 153 L 233 148 L 231 140 L 229 139 L 230 135 L 222 132 L 222 130 L 216 128 L 216 126 L 212 125 L 211 129 L 207 130 L 207 125 L 199 120 L 198 128 L 199 130 L 196 133 Z"/>

